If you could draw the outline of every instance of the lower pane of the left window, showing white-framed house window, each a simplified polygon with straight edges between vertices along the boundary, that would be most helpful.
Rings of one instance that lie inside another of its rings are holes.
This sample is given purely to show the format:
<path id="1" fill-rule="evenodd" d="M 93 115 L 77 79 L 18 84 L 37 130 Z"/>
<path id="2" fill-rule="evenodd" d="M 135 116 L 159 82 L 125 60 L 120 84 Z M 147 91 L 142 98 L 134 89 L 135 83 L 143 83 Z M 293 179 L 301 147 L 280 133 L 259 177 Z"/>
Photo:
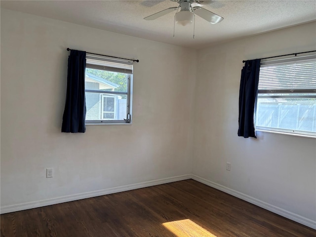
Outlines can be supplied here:
<path id="1" fill-rule="evenodd" d="M 126 119 L 127 100 L 122 98 L 122 95 L 85 92 L 85 101 L 87 110 L 85 120 Z"/>

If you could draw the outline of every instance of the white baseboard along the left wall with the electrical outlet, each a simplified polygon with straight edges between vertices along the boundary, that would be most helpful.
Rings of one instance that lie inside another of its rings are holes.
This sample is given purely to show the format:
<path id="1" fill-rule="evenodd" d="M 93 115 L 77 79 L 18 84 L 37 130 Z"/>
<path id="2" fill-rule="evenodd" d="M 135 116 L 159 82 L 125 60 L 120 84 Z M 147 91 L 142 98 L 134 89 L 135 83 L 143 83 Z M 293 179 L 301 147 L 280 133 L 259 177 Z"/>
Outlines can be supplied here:
<path id="1" fill-rule="evenodd" d="M 48 205 L 63 203 L 67 201 L 75 201 L 75 200 L 89 198 L 89 197 L 98 197 L 98 196 L 107 195 L 107 194 L 115 194 L 119 192 L 146 188 L 146 187 L 155 186 L 159 184 L 167 184 L 167 183 L 191 179 L 191 178 L 192 178 L 191 174 L 180 175 L 180 176 L 174 176 L 170 178 L 157 179 L 157 180 L 124 185 L 124 186 L 98 190 L 98 191 L 93 191 L 93 192 L 69 195 L 69 196 L 64 196 L 64 197 L 56 197 L 56 198 L 51 198 L 51 199 L 46 199 L 46 200 L 41 200 L 41 201 L 25 202 L 25 203 L 15 204 L 15 205 L 1 206 L 0 214 L 14 212 L 14 211 L 22 211 L 22 210 L 27 210 L 27 209 L 36 208 L 36 207 L 48 206 Z"/>

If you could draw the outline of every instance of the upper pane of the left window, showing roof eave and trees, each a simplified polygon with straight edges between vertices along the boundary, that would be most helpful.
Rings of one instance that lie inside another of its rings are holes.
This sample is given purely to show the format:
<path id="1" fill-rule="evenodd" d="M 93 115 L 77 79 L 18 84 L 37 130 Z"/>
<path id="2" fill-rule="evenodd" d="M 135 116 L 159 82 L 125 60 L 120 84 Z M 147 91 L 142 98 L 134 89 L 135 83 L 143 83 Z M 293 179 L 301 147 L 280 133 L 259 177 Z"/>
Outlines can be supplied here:
<path id="1" fill-rule="evenodd" d="M 128 74 L 85 69 L 85 89 L 127 92 Z M 122 95 L 126 98 L 126 95 Z"/>

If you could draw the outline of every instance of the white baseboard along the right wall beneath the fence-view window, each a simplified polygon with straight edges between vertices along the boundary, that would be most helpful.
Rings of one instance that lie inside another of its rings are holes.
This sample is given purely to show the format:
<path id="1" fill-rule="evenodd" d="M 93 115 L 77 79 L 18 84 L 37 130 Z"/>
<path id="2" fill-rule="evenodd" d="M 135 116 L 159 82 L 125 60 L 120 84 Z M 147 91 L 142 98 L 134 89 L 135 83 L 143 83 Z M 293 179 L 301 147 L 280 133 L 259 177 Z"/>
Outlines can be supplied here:
<path id="1" fill-rule="evenodd" d="M 201 178 L 197 175 L 192 175 L 192 179 L 202 183 L 202 184 L 206 184 L 207 186 L 210 186 L 214 189 L 217 189 L 217 190 L 220 190 L 220 191 L 223 191 L 224 193 L 227 193 L 227 194 L 230 194 L 234 197 L 238 197 L 242 200 L 245 200 L 247 202 L 250 202 L 256 206 L 260 206 L 268 211 L 271 211 L 273 213 L 276 213 L 280 216 L 283 216 L 285 218 L 288 218 L 292 221 L 295 221 L 295 222 L 298 222 L 302 225 L 305 225 L 305 226 L 308 226 L 310 228 L 313 228 L 316 230 L 316 221 L 313 221 L 311 219 L 308 219 L 308 218 L 305 218 L 303 216 L 300 216 L 300 215 L 297 215 L 295 213 L 292 213 L 290 211 L 287 211 L 287 210 L 284 210 L 280 207 L 277 207 L 277 206 L 274 206 L 274 205 L 271 205 L 267 202 L 264 202 L 264 201 L 261 201 L 257 198 L 254 198 L 254 197 L 250 197 L 248 195 L 245 195 L 245 194 L 242 194 L 240 192 L 237 192 L 236 190 L 233 190 L 233 189 L 230 189 L 230 188 L 227 188 L 223 185 L 220 185 L 220 184 L 217 184 L 217 183 L 214 183 L 212 181 L 209 181 L 207 179 L 204 179 L 204 178 Z"/>

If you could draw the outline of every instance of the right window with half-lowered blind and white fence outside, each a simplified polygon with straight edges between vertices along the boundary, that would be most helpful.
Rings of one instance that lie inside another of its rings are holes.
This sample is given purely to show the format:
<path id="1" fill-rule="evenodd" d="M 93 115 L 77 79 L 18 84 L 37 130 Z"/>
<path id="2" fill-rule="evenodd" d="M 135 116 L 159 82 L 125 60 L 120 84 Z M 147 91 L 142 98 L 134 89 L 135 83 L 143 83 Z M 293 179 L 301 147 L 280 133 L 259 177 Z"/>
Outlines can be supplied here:
<path id="1" fill-rule="evenodd" d="M 255 124 L 316 136 L 316 55 L 261 63 Z"/>

